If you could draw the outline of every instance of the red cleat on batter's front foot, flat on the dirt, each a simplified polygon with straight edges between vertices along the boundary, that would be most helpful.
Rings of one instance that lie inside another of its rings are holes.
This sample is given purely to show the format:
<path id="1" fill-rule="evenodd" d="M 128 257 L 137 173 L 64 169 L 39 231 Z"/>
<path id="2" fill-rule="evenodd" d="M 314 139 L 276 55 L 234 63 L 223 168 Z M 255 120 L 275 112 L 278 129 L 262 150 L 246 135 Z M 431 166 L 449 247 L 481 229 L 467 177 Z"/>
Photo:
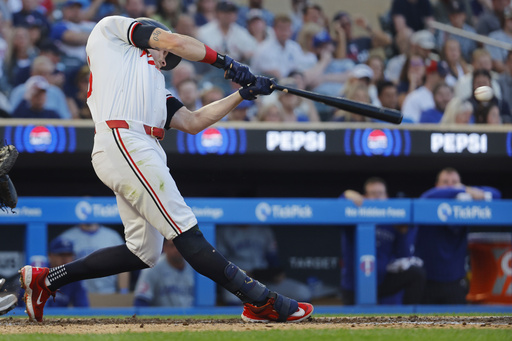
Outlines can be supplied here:
<path id="1" fill-rule="evenodd" d="M 296 308 L 295 308 L 296 307 Z M 294 309 L 295 308 L 295 309 Z M 290 309 L 292 312 L 290 312 Z M 296 302 L 288 297 L 277 294 L 268 302 L 256 307 L 250 303 L 244 304 L 242 320 L 245 322 L 300 322 L 313 314 L 313 305 L 304 302 Z"/>

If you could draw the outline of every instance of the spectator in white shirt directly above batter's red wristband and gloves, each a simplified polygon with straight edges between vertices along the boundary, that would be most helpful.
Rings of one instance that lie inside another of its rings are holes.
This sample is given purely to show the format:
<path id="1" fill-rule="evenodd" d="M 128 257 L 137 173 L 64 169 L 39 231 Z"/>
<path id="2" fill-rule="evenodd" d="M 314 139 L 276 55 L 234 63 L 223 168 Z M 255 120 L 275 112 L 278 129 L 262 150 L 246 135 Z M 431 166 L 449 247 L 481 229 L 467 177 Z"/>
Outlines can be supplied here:
<path id="1" fill-rule="evenodd" d="M 197 38 L 219 53 L 228 54 L 235 60 L 248 61 L 257 43 L 249 32 L 236 23 L 238 6 L 231 1 L 219 1 L 216 19 L 197 30 Z"/>

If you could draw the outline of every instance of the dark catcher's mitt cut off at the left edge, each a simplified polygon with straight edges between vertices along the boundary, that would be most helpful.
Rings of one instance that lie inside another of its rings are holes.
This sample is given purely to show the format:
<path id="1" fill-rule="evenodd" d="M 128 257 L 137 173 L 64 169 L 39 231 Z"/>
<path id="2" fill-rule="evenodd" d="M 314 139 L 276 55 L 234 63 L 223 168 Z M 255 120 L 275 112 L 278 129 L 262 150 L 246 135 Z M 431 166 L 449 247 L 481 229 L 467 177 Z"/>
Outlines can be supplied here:
<path id="1" fill-rule="evenodd" d="M 9 171 L 18 158 L 18 150 L 13 145 L 0 148 L 0 209 L 15 208 L 18 204 L 18 195 L 14 184 L 9 178 Z"/>

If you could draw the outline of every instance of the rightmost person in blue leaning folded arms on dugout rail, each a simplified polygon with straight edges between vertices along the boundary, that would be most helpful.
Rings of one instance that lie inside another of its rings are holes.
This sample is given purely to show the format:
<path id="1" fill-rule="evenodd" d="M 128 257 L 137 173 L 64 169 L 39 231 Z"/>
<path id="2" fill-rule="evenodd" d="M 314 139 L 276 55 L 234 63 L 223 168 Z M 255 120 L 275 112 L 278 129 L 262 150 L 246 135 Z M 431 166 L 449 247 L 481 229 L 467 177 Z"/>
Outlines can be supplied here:
<path id="1" fill-rule="evenodd" d="M 422 199 L 492 200 L 501 193 L 492 187 L 463 185 L 454 168 L 444 168 L 435 187 L 421 195 Z M 427 283 L 422 303 L 465 304 L 468 227 L 464 225 L 420 225 L 416 254 L 424 262 Z"/>

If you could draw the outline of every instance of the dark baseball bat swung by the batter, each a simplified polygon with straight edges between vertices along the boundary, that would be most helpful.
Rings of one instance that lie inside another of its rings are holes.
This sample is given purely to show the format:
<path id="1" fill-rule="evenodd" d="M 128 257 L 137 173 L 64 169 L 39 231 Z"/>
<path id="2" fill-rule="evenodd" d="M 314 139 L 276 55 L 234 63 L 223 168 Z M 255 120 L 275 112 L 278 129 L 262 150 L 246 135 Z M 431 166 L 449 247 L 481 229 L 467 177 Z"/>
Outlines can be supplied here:
<path id="1" fill-rule="evenodd" d="M 377 120 L 394 124 L 400 124 L 402 122 L 403 115 L 398 110 L 376 107 L 374 105 L 351 101 L 342 97 L 322 95 L 316 92 L 290 88 L 279 84 L 272 85 L 272 87 L 279 91 L 287 92 L 299 97 L 304 97 L 312 101 L 324 103 L 338 109 L 350 111 L 354 114 L 368 116 Z"/>

